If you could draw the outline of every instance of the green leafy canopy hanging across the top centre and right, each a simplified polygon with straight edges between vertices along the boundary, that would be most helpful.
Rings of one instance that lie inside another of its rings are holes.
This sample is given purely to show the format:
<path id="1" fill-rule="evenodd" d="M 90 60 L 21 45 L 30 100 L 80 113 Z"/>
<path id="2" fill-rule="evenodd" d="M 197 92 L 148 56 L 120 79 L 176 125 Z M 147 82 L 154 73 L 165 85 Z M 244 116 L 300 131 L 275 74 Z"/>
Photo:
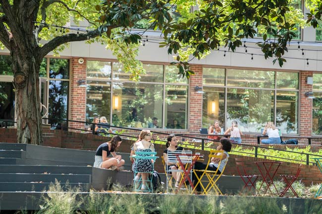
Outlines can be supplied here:
<path id="1" fill-rule="evenodd" d="M 308 14 L 308 21 L 314 27 L 316 20 L 321 18 L 322 7 L 316 2 L 315 10 Z M 191 6 L 198 6 L 200 10 L 189 13 Z M 180 14 L 177 21 L 173 21 L 174 12 Z M 103 0 L 97 6 L 100 13 L 100 32 L 110 36 L 110 28 L 121 27 L 118 32 L 124 43 L 138 43 L 139 34 L 128 34 L 127 29 L 135 26 L 140 20 L 150 20 L 150 27 L 161 30 L 169 54 L 175 54 L 179 73 L 187 78 L 191 71 L 185 64 L 189 55 L 200 59 L 210 50 L 219 45 L 228 46 L 235 51 L 242 45 L 244 38 L 253 38 L 257 29 L 263 35 L 264 42 L 258 43 L 265 54 L 265 58 L 274 58 L 273 63 L 280 66 L 286 62 L 282 58 L 288 51 L 287 43 L 297 38 L 297 28 L 304 27 L 305 21 L 298 0 L 279 1 L 127 1 Z M 270 40 L 269 40 L 270 39 Z M 179 53 L 179 55 L 177 55 Z"/>

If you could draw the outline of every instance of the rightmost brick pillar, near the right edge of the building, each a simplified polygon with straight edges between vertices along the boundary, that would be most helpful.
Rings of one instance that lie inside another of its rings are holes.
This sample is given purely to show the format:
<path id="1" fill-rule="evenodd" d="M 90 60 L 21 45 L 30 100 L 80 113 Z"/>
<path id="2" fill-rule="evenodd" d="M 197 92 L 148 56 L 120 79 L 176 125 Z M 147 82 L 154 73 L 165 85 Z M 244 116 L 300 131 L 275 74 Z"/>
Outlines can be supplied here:
<path id="1" fill-rule="evenodd" d="M 300 135 L 310 136 L 312 134 L 312 99 L 305 96 L 305 92 L 312 91 L 312 85 L 306 84 L 308 76 L 313 76 L 312 71 L 301 72 L 300 99 Z"/>

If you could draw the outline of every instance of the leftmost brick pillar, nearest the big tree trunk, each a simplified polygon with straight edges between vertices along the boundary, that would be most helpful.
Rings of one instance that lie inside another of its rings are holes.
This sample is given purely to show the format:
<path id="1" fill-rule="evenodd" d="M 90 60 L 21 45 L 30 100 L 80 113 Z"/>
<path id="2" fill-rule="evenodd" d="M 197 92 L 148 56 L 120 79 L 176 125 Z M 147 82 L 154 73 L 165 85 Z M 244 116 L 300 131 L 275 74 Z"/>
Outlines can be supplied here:
<path id="1" fill-rule="evenodd" d="M 71 59 L 71 82 L 70 82 L 70 120 L 85 122 L 86 113 L 86 87 L 78 86 L 79 80 L 86 81 L 86 60 L 83 64 L 78 63 L 79 58 Z M 70 122 L 71 128 L 84 129 L 85 124 Z"/>

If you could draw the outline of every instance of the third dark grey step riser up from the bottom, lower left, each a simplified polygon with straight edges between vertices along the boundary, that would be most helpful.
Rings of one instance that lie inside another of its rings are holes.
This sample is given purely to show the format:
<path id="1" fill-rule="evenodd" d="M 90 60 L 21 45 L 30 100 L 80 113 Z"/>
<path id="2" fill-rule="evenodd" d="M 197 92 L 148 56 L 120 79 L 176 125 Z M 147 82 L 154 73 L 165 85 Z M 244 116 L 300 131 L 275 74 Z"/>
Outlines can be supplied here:
<path id="1" fill-rule="evenodd" d="M 28 166 L 2 165 L 0 173 L 51 173 L 51 174 L 92 174 L 92 167 L 83 166 Z"/>

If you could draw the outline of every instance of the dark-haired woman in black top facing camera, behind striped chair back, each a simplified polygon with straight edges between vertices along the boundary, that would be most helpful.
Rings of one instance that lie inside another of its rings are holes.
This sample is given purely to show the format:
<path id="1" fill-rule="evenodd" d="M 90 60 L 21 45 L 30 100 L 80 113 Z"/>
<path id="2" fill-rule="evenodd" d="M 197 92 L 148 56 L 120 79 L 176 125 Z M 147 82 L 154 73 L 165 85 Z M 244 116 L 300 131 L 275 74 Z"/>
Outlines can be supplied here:
<path id="1" fill-rule="evenodd" d="M 178 146 L 178 140 L 176 138 L 176 136 L 174 134 L 170 134 L 167 137 L 167 142 L 165 144 L 166 149 L 163 151 L 163 159 L 164 161 L 167 160 L 167 154 L 168 151 L 184 151 L 184 149 L 181 146 Z M 167 167 L 168 169 L 166 170 L 178 170 L 181 169 L 180 167 L 178 167 L 178 165 L 176 163 L 167 163 Z M 181 180 L 181 172 L 180 171 L 175 171 L 175 172 L 171 172 L 172 176 L 175 180 L 175 187 L 179 186 L 179 182 Z"/>

